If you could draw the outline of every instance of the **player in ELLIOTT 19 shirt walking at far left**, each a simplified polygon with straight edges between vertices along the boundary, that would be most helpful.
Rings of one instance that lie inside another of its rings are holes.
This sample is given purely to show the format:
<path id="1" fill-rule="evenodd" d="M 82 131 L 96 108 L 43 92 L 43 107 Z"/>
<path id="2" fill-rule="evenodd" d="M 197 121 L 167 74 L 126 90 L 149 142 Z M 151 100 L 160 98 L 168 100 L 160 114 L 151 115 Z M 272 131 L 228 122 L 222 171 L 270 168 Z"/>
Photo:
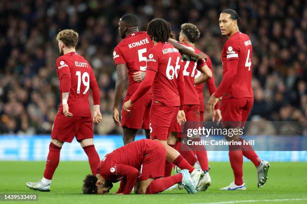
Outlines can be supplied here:
<path id="1" fill-rule="evenodd" d="M 71 142 L 75 136 L 88 156 L 93 173 L 99 164 L 99 155 L 93 144 L 92 124 L 101 121 L 99 87 L 88 61 L 76 53 L 78 37 L 79 34 L 72 29 L 61 30 L 56 37 L 62 54 L 56 62 L 62 102 L 52 127 L 44 177 L 38 182 L 27 182 L 31 189 L 50 191 L 62 145 Z M 92 90 L 94 102 L 92 117 L 89 89 Z"/>

